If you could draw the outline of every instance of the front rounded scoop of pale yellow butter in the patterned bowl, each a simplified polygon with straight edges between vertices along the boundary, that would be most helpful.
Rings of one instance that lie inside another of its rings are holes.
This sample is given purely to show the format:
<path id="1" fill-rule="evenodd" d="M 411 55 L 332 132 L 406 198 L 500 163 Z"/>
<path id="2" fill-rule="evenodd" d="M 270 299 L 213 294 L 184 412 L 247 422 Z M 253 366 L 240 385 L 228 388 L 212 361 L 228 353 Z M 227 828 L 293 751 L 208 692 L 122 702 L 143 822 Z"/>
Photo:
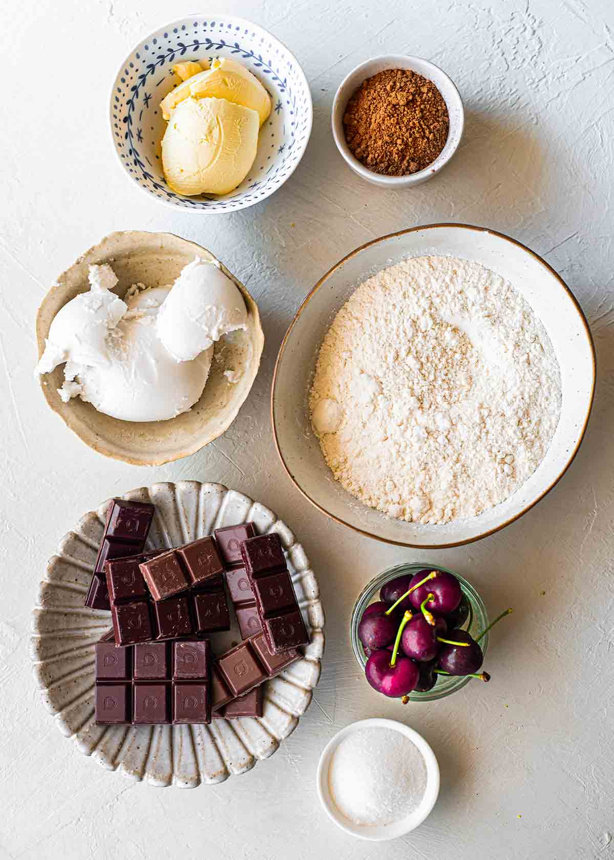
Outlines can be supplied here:
<path id="1" fill-rule="evenodd" d="M 189 96 L 162 138 L 166 181 L 179 194 L 228 194 L 256 158 L 258 114 L 227 99 Z"/>

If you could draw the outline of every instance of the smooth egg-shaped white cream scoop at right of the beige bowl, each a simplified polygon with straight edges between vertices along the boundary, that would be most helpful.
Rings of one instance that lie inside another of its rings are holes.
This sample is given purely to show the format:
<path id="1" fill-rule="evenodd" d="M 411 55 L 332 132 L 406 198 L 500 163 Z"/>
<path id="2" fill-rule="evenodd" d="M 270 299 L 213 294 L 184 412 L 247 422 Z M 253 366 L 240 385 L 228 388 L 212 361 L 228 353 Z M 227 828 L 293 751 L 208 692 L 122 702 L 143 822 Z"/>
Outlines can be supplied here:
<path id="1" fill-rule="evenodd" d="M 188 361 L 231 331 L 247 328 L 245 301 L 214 262 L 183 268 L 158 314 L 158 337 L 177 361 Z"/>

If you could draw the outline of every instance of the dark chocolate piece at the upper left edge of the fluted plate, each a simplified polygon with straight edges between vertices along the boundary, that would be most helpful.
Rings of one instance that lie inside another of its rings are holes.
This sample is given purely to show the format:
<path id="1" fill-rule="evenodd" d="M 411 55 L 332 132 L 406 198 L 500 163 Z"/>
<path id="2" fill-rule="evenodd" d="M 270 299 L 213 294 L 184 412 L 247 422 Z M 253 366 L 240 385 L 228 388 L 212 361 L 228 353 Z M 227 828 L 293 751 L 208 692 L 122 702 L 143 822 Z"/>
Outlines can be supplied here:
<path id="1" fill-rule="evenodd" d="M 114 499 L 111 502 L 94 575 L 85 598 L 85 605 L 90 609 L 110 609 L 104 564 L 110 559 L 143 551 L 155 510 L 147 501 Z"/>

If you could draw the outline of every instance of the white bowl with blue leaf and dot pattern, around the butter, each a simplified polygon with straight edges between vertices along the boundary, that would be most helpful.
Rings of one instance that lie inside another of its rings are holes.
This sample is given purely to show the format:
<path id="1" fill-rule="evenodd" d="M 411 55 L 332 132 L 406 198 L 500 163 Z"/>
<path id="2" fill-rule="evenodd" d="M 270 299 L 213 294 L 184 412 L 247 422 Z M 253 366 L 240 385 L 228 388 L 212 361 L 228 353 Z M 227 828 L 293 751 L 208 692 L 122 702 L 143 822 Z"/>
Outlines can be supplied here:
<path id="1" fill-rule="evenodd" d="M 231 57 L 264 84 L 273 100 L 260 129 L 256 161 L 230 194 L 185 197 L 162 173 L 160 143 L 166 123 L 160 101 L 177 83 L 175 63 Z M 115 151 L 136 185 L 171 206 L 192 212 L 235 212 L 264 200 L 301 161 L 311 132 L 309 84 L 295 57 L 257 24 L 231 15 L 192 15 L 158 28 L 128 55 L 115 78 L 109 106 Z"/>

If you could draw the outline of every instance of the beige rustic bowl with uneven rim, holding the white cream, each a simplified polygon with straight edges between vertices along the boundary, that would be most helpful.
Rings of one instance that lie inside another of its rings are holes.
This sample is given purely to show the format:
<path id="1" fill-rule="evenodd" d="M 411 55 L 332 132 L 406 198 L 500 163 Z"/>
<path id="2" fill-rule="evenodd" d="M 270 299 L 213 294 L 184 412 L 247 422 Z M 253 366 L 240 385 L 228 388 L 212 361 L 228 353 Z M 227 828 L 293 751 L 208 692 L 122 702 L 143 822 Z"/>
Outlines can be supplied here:
<path id="1" fill-rule="evenodd" d="M 39 355 L 45 348 L 53 317 L 66 302 L 89 288 L 87 276 L 91 265 L 109 263 L 113 267 L 119 278 L 116 292 L 122 297 L 129 286 L 138 282 L 147 286 L 171 284 L 196 255 L 215 259 L 201 245 L 171 233 L 141 230 L 111 233 L 80 256 L 47 293 L 36 318 Z M 64 365 L 40 378 L 49 406 L 86 445 L 126 463 L 158 466 L 195 453 L 230 427 L 256 378 L 264 335 L 256 302 L 233 273 L 224 266 L 222 270 L 233 279 L 245 299 L 247 329 L 226 335 L 215 344 L 207 385 L 189 412 L 169 421 L 120 421 L 102 415 L 78 398 L 62 402 L 57 389 L 64 381 Z M 227 366 L 241 368 L 237 383 L 229 383 L 224 376 Z"/>

